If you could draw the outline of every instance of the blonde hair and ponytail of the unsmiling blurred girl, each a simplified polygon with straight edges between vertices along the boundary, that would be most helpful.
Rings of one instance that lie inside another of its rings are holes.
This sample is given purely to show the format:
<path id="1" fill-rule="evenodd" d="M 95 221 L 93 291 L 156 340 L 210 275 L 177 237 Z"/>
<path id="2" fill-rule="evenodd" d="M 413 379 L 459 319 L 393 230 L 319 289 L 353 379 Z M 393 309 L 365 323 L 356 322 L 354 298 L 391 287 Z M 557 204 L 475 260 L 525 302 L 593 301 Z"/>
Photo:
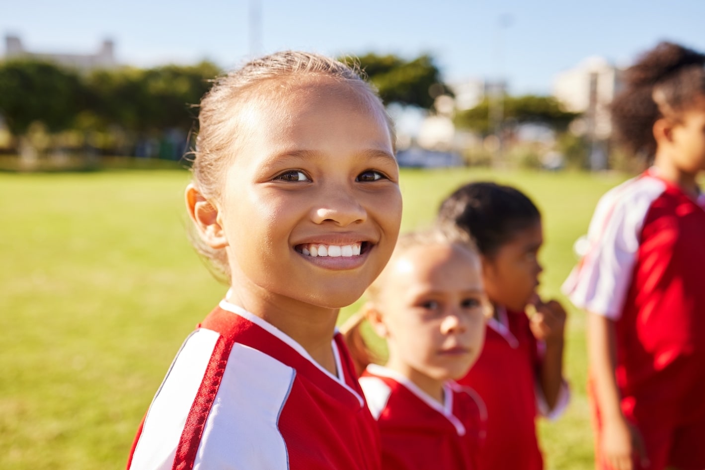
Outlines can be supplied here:
<path id="1" fill-rule="evenodd" d="M 459 245 L 464 247 L 476 257 L 479 266 L 479 254 L 470 236 L 467 235 L 465 231 L 455 228 L 453 225 L 436 225 L 429 230 L 409 232 L 400 235 L 389 263 L 412 248 L 436 245 Z M 381 292 L 384 290 L 385 278 L 386 276 L 384 276 L 383 271 L 383 273 L 374 280 L 374 283 L 367 288 L 365 295 L 370 302 L 374 303 L 379 300 Z M 358 374 L 362 373 L 369 364 L 379 364 L 381 362 L 379 354 L 369 347 L 362 336 L 361 329 L 364 320 L 364 312 L 357 311 L 350 316 L 340 328 Z"/>

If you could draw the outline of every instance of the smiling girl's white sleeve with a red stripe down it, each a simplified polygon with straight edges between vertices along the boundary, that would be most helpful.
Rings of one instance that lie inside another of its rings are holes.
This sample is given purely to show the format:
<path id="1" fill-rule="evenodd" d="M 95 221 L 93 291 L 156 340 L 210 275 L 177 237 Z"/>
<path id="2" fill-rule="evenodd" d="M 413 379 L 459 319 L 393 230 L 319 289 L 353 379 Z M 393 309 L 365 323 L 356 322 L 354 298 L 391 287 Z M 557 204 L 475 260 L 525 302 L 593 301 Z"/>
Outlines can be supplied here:
<path id="1" fill-rule="evenodd" d="M 264 352 L 200 328 L 154 397 L 128 469 L 288 469 L 278 421 L 295 376 Z"/>

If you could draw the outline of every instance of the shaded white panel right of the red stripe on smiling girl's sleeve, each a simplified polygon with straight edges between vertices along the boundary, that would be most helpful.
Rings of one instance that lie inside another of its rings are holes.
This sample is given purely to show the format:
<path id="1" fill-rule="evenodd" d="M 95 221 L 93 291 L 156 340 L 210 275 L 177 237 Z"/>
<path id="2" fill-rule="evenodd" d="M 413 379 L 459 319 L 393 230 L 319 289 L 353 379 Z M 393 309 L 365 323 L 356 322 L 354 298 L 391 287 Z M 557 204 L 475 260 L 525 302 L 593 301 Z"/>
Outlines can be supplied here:
<path id="1" fill-rule="evenodd" d="M 193 468 L 288 469 L 278 420 L 295 375 L 264 352 L 235 343 Z"/>

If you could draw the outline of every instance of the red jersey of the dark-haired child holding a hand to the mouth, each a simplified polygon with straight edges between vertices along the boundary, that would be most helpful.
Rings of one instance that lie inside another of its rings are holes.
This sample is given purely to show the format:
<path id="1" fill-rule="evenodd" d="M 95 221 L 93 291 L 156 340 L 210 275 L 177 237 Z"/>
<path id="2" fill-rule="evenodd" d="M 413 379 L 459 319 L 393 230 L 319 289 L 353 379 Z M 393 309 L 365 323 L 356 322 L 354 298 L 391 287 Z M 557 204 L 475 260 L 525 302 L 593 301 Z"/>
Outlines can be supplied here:
<path id="1" fill-rule="evenodd" d="M 477 362 L 458 381 L 482 397 L 487 407 L 487 438 L 480 468 L 540 470 L 544 460 L 536 435 L 537 414 L 559 416 L 570 400 L 563 383 L 558 403 L 548 410 L 537 385 L 541 345 L 529 328 L 524 312 L 497 309 L 490 319 Z M 509 446 L 509 447 L 508 447 Z"/>

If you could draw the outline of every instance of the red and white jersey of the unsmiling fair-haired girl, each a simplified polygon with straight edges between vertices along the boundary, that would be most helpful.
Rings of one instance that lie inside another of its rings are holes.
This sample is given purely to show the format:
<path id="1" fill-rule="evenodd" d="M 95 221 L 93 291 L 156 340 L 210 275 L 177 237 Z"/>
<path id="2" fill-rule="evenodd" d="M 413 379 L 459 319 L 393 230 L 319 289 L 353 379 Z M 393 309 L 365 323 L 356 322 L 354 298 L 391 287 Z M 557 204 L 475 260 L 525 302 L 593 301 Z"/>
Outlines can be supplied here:
<path id="1" fill-rule="evenodd" d="M 379 425 L 384 470 L 481 468 L 487 414 L 474 390 L 449 381 L 441 404 L 400 373 L 374 364 L 360 385 Z"/>

